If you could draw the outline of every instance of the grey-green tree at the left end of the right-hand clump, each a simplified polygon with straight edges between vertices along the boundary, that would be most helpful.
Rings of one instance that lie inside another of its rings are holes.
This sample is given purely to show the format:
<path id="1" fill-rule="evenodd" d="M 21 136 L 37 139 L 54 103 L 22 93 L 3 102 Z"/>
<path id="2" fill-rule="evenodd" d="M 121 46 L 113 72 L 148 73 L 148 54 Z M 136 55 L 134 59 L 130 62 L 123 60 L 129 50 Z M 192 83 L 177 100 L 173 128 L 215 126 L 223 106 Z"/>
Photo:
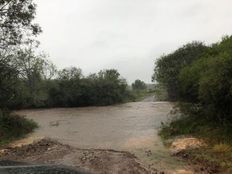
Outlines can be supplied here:
<path id="1" fill-rule="evenodd" d="M 170 100 L 179 100 L 181 98 L 180 71 L 203 56 L 207 50 L 208 48 L 201 42 L 193 42 L 171 54 L 160 57 L 155 64 L 153 81 L 162 84 L 167 89 Z"/>

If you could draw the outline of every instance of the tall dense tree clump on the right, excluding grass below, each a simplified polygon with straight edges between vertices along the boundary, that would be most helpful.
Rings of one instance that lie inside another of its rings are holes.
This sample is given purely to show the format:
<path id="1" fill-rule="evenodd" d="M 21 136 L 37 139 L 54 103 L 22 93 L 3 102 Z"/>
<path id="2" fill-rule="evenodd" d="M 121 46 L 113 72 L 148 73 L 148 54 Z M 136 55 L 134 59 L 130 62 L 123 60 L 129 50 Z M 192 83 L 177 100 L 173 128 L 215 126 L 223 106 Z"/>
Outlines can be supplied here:
<path id="1" fill-rule="evenodd" d="M 218 124 L 232 123 L 232 36 L 206 46 L 193 42 L 160 57 L 153 81 L 169 100 L 191 103 Z"/>

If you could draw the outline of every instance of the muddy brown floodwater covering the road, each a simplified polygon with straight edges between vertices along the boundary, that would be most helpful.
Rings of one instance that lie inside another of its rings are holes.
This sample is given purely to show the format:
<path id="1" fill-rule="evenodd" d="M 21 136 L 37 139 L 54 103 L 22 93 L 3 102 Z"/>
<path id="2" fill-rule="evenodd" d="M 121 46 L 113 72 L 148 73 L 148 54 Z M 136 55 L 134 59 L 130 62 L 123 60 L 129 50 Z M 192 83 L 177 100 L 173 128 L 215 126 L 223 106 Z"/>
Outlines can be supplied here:
<path id="1" fill-rule="evenodd" d="M 29 136 L 49 137 L 78 148 L 125 150 L 159 170 L 178 170 L 185 164 L 171 157 L 158 129 L 173 105 L 169 102 L 126 103 L 106 107 L 23 110 L 39 128 Z"/>

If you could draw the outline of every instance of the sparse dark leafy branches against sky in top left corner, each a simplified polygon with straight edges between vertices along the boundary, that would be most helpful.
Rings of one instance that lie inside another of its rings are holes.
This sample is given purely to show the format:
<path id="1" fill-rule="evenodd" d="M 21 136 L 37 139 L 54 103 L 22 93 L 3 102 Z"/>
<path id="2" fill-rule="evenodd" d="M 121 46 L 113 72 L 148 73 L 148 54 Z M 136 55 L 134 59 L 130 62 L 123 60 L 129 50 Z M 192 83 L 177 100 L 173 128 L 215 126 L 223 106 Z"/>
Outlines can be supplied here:
<path id="1" fill-rule="evenodd" d="M 36 36 L 41 32 L 35 18 L 36 5 L 32 0 L 0 1 L 0 49 L 20 44 L 28 35 Z"/>

